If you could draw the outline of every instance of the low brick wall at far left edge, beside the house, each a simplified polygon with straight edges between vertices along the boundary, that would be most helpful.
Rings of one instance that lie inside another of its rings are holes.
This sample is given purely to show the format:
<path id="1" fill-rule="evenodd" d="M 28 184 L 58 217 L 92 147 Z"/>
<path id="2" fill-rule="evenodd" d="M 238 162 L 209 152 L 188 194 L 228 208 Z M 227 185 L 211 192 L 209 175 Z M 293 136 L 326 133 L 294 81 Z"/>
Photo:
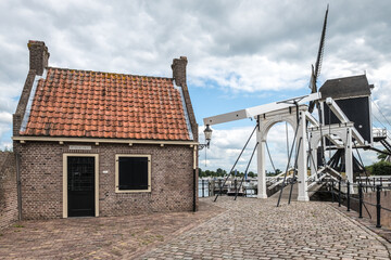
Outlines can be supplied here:
<path id="1" fill-rule="evenodd" d="M 17 220 L 15 156 L 0 152 L 0 230 Z"/>

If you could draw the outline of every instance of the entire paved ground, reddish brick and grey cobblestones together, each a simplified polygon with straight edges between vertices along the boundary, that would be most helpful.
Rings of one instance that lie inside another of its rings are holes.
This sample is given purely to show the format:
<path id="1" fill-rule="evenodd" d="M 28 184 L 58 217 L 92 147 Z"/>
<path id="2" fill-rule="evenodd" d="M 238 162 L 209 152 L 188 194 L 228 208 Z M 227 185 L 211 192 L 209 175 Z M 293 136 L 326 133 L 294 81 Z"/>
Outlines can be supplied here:
<path id="1" fill-rule="evenodd" d="M 197 213 L 23 221 L 0 232 L 0 259 L 390 259 L 328 203 L 200 200 Z"/>

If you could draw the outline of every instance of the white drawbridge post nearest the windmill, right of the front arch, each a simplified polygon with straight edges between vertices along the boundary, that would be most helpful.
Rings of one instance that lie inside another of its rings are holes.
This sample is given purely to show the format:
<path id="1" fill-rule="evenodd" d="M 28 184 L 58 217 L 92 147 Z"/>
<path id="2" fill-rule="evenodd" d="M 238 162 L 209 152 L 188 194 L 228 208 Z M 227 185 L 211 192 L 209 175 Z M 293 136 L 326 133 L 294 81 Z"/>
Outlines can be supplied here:
<path id="1" fill-rule="evenodd" d="M 298 176 L 299 176 L 299 202 L 308 202 L 307 192 L 307 135 L 306 135 L 306 119 L 305 110 L 307 107 L 301 107 L 299 112 L 299 131 L 298 131 L 298 146 L 300 145 L 298 157 Z"/>

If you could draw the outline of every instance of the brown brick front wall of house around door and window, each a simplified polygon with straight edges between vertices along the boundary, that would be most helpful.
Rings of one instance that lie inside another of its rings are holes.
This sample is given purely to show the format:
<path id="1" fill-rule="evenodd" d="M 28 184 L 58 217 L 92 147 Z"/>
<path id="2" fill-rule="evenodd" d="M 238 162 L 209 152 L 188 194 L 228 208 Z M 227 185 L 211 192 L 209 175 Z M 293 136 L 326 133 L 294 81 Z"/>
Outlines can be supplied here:
<path id="1" fill-rule="evenodd" d="M 188 145 L 91 145 L 92 150 L 68 151 L 68 143 L 61 145 L 54 142 L 14 144 L 22 161 L 23 219 L 62 217 L 64 153 L 99 154 L 100 216 L 192 210 L 193 148 Z M 151 193 L 115 193 L 115 154 L 151 155 Z"/>

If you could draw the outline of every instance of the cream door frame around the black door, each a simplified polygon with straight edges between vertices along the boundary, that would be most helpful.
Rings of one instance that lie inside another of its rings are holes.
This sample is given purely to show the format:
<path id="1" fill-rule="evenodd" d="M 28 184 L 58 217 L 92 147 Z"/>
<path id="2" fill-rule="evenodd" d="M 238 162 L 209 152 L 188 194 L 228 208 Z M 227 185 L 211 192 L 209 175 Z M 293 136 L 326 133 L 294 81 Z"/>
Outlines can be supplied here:
<path id="1" fill-rule="evenodd" d="M 99 154 L 63 154 L 63 218 L 67 218 L 67 157 L 94 158 L 94 217 L 99 217 Z"/>

